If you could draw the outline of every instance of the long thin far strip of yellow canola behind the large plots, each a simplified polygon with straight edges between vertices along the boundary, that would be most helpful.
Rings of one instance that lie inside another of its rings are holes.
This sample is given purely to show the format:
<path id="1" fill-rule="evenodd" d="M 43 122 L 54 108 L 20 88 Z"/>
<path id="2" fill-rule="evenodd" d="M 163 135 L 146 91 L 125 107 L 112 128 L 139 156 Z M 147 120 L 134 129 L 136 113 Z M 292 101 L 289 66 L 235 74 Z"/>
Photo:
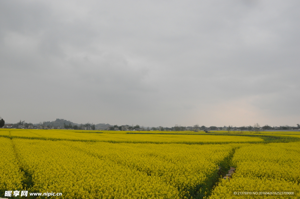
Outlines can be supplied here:
<path id="1" fill-rule="evenodd" d="M 71 130 L 36 130 L 36 129 L 1 129 L 0 136 L 10 138 L 35 138 L 49 140 L 71 141 L 105 141 L 126 143 L 181 143 L 181 144 L 210 144 L 210 143 L 256 143 L 261 138 L 248 136 L 227 135 L 161 135 L 161 134 L 113 134 L 113 133 L 82 133 Z"/>

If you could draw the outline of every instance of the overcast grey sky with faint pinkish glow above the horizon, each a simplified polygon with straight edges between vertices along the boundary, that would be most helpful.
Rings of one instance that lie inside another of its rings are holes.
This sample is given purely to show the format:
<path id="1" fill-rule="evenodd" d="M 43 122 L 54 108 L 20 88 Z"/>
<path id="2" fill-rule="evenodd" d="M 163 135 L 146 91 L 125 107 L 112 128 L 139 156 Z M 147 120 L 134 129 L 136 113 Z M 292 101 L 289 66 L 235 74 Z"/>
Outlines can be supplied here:
<path id="1" fill-rule="evenodd" d="M 6 122 L 300 123 L 300 1 L 0 1 Z"/>

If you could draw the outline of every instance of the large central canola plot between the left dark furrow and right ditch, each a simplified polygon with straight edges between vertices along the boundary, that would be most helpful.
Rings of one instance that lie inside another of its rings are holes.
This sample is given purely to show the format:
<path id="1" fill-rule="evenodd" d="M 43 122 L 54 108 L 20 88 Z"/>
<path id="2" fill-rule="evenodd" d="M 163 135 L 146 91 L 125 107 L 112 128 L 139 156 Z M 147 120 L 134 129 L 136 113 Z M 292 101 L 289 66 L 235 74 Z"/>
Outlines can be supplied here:
<path id="1" fill-rule="evenodd" d="M 234 145 L 132 144 L 13 139 L 32 192 L 62 198 L 205 195 Z M 55 197 L 52 197 L 55 198 Z"/>

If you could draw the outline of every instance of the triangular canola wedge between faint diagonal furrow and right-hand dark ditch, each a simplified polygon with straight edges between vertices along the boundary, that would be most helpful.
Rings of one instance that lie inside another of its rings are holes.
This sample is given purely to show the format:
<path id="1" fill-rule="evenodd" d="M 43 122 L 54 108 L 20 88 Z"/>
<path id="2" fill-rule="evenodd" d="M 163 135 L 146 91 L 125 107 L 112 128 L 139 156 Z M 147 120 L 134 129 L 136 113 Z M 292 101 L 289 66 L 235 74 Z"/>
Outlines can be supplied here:
<path id="1" fill-rule="evenodd" d="M 76 143 L 73 146 L 103 160 L 160 177 L 176 187 L 181 195 L 205 195 L 217 177 L 217 165 L 236 144 L 128 144 Z"/>

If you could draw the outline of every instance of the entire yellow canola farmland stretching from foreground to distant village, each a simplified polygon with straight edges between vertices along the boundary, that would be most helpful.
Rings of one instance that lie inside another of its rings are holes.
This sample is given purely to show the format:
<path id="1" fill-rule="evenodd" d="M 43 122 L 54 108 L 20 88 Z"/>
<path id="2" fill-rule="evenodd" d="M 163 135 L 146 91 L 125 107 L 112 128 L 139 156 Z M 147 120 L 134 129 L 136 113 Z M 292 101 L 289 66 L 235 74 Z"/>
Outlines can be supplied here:
<path id="1" fill-rule="evenodd" d="M 264 198 L 232 193 L 300 191 L 299 135 L 189 134 L 1 129 L 0 197 L 10 190 L 62 193 L 39 198 L 114 199 Z M 229 167 L 236 172 L 223 179 Z"/>

